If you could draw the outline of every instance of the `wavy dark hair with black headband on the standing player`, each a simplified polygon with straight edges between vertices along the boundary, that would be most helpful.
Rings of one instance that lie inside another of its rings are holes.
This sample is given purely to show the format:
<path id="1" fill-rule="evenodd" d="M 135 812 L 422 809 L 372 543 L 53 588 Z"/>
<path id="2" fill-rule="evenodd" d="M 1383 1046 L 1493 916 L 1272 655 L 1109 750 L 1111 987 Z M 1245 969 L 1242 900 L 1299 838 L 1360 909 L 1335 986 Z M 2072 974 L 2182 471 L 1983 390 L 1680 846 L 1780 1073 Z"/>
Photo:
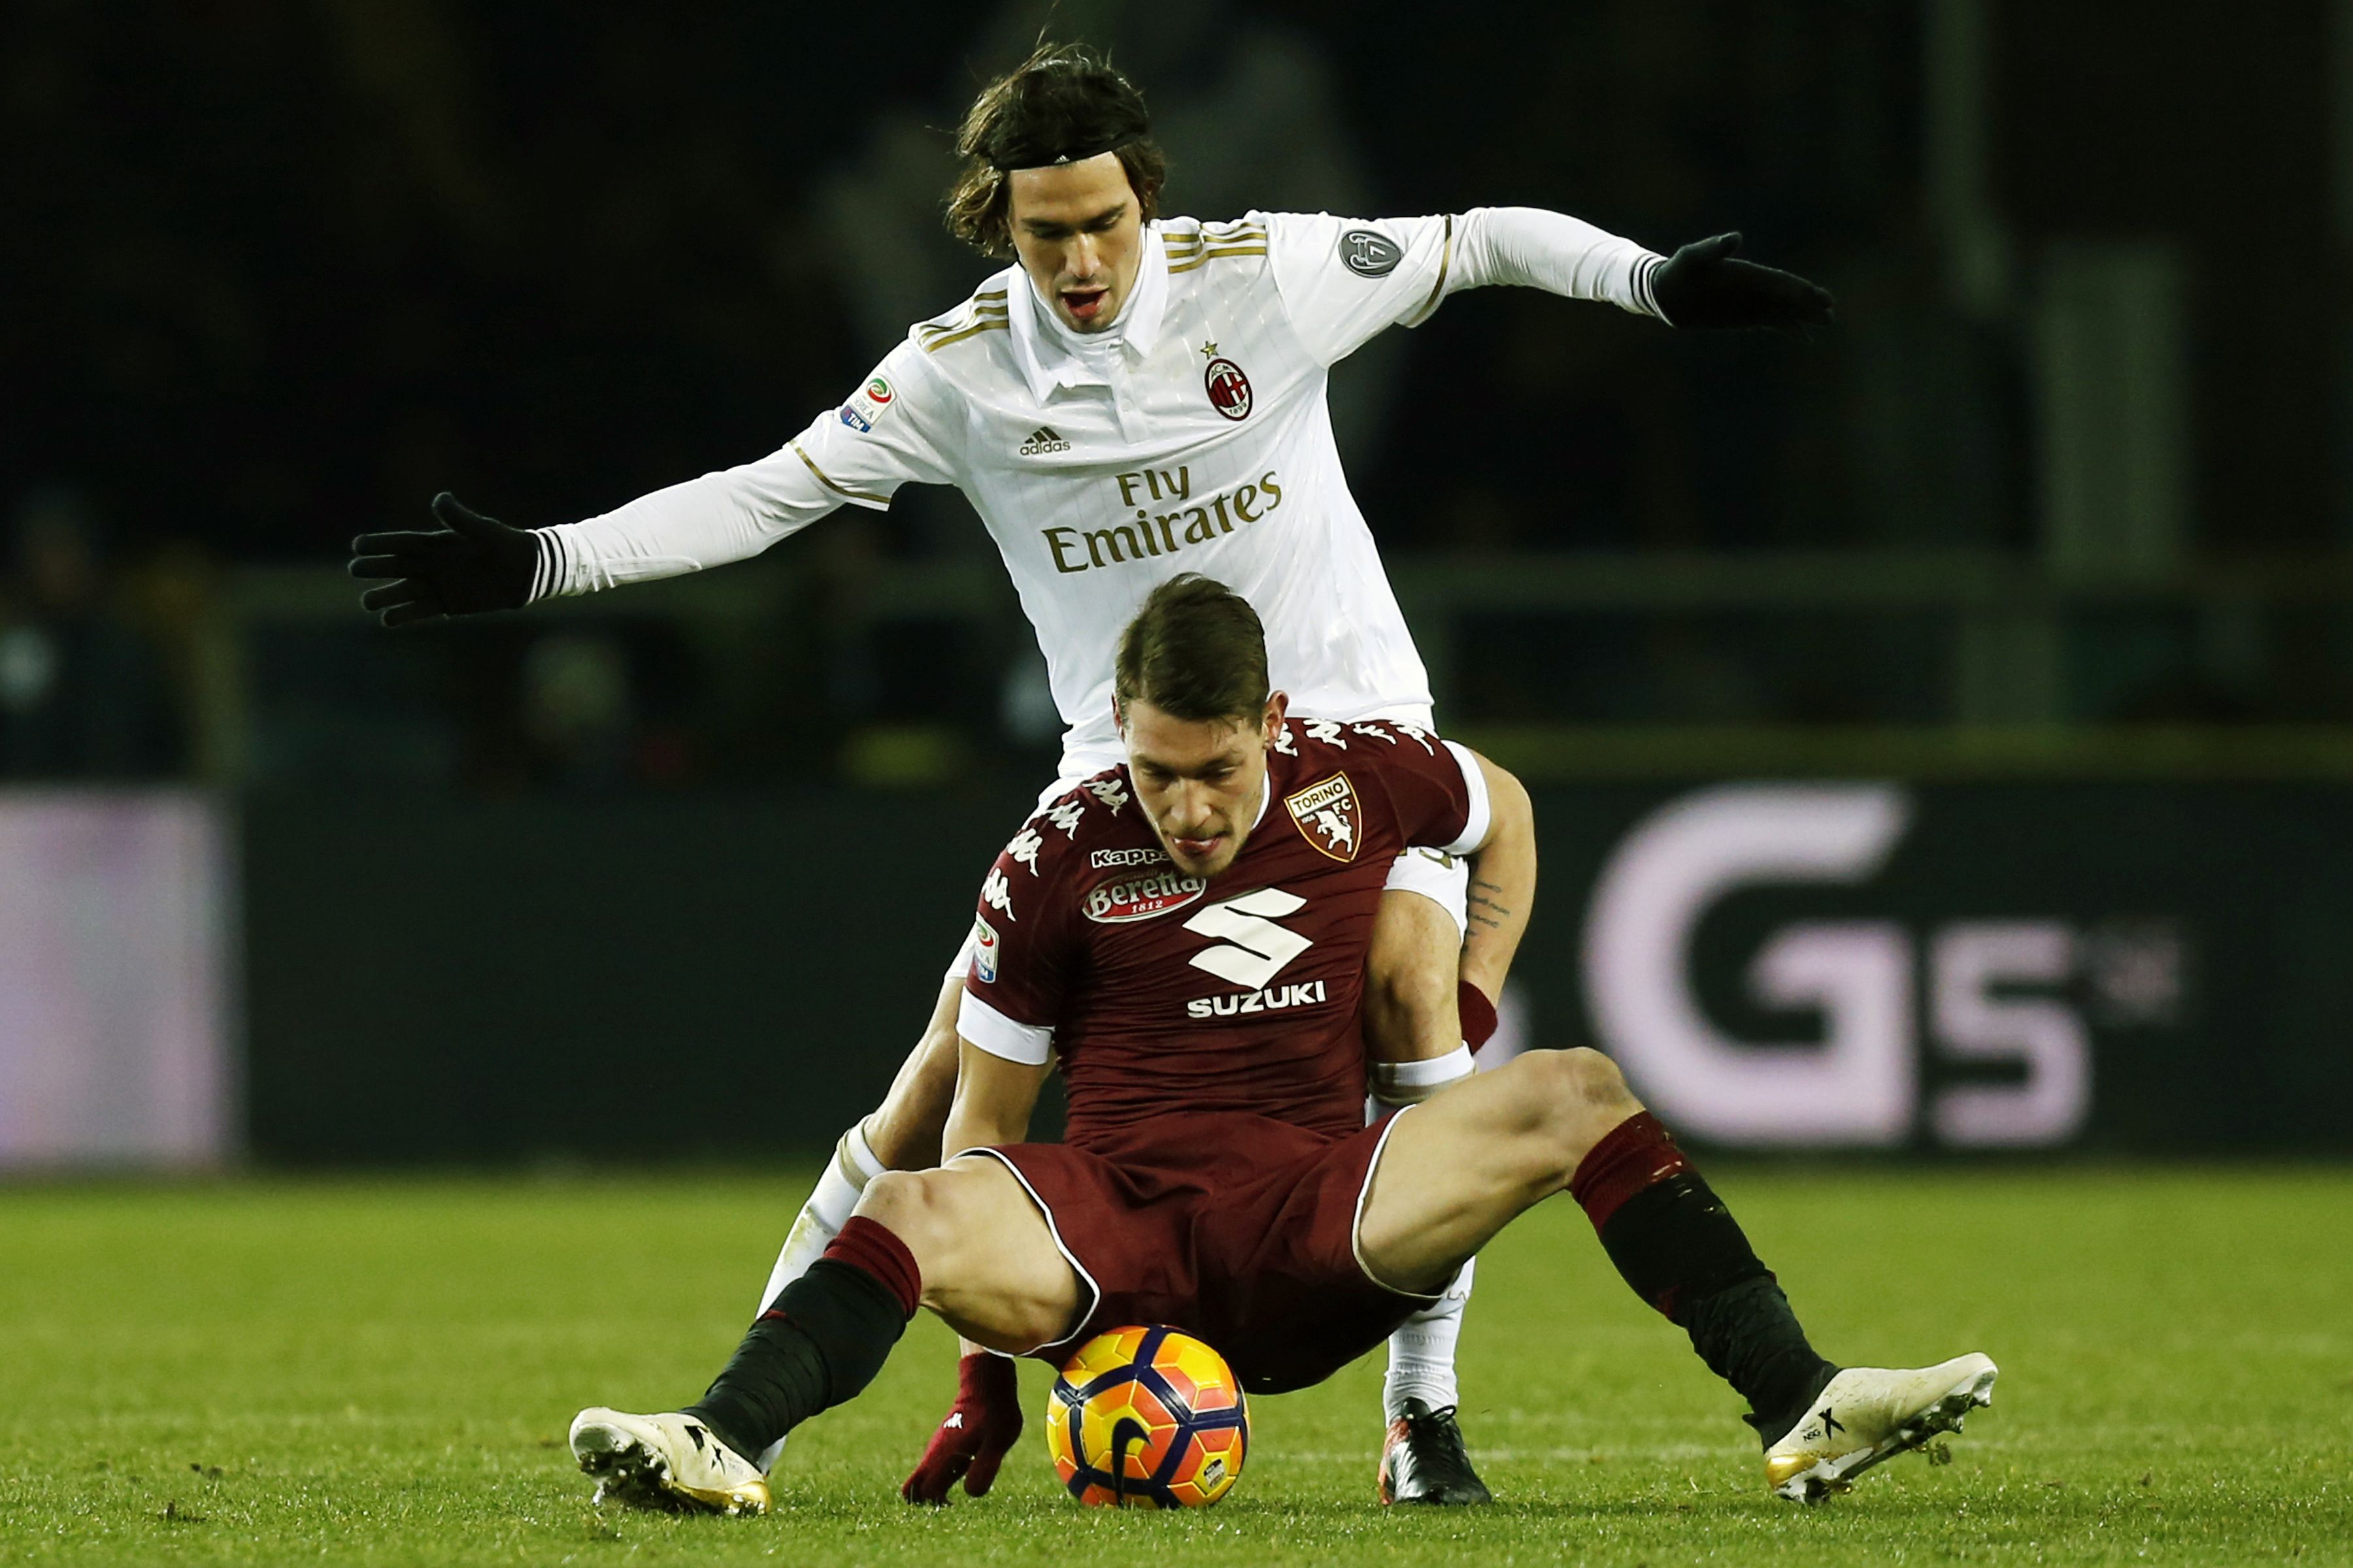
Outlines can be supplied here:
<path id="1" fill-rule="evenodd" d="M 1005 176 L 1101 153 L 1120 155 L 1139 216 L 1160 216 L 1167 158 L 1151 136 L 1144 94 L 1087 45 L 1038 45 L 981 87 L 955 132 L 962 172 L 948 190 L 948 233 L 984 256 L 1009 256 Z"/>

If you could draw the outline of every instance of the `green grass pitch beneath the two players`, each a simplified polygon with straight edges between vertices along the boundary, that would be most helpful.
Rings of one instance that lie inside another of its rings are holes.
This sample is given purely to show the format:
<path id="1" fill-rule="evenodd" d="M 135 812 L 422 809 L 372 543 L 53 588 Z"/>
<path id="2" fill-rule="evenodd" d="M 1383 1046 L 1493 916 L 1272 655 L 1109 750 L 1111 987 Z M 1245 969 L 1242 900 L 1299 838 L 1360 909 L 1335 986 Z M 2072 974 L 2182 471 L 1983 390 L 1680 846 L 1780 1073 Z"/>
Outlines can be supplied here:
<path id="1" fill-rule="evenodd" d="M 2353 1171 L 1727 1166 L 1817 1345 L 1986 1349 L 1948 1465 L 1765 1495 L 1732 1396 L 1565 1199 L 1482 1260 L 1464 1425 L 1501 1502 L 1372 1502 L 1379 1359 L 1252 1408 L 1202 1514 L 1071 1505 L 1047 1373 L 995 1495 L 896 1483 L 946 1408 L 920 1319 L 795 1436 L 767 1519 L 598 1512 L 576 1406 L 666 1408 L 732 1349 L 802 1180 L 0 1187 L 0 1563 L 2353 1561 Z"/>

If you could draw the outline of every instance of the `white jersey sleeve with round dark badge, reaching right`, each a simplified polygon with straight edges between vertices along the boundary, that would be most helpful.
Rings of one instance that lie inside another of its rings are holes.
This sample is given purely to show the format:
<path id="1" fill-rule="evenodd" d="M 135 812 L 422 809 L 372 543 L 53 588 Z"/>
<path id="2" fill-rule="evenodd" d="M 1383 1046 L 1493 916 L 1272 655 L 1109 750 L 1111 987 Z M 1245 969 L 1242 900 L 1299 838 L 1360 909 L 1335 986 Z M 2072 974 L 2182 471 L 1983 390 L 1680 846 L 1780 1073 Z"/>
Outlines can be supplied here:
<path id="1" fill-rule="evenodd" d="M 1508 282 L 1659 315 L 1659 256 L 1560 212 L 1473 207 L 1459 216 L 1252 214 L 1268 228 L 1282 310 L 1325 364 L 1384 327 L 1419 327 L 1461 289 Z"/>

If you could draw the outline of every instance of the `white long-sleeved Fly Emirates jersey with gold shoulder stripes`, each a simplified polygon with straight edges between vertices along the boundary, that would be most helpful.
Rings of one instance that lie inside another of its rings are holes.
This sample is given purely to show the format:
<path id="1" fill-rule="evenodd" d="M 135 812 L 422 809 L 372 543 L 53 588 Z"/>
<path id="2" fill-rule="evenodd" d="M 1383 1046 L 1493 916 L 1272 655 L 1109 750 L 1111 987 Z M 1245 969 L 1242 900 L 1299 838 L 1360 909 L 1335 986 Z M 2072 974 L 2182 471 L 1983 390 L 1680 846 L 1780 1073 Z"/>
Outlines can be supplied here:
<path id="1" fill-rule="evenodd" d="M 1099 334 L 1064 327 L 1009 266 L 915 324 L 847 404 L 772 456 L 551 529 L 541 590 L 741 559 L 845 501 L 885 508 L 901 484 L 953 484 L 1038 632 L 1066 776 L 1120 759 L 1113 649 L 1181 571 L 1249 599 L 1297 712 L 1428 726 L 1428 675 L 1341 475 L 1325 378 L 1384 327 L 1482 282 L 1457 273 L 1457 226 L 1158 221 L 1120 320 Z M 1649 252 L 1586 233 L 1579 261 L 1595 282 L 1579 292 L 1645 308 Z"/>

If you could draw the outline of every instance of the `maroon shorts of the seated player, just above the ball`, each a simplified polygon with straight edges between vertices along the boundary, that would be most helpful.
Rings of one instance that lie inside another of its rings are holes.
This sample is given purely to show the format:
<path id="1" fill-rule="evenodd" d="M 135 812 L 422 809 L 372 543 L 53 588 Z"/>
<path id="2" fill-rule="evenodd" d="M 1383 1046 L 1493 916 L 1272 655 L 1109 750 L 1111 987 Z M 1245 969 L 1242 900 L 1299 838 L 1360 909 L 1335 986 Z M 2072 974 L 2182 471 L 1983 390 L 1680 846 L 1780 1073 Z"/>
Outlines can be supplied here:
<path id="1" fill-rule="evenodd" d="M 1031 1190 L 1094 1295 L 1078 1328 L 1031 1354 L 1059 1366 L 1108 1328 L 1169 1324 L 1252 1394 L 1322 1382 L 1438 1300 L 1377 1286 L 1355 1260 L 1355 1211 L 1393 1121 L 1332 1138 L 1174 1114 L 1115 1150 L 979 1150 Z"/>

